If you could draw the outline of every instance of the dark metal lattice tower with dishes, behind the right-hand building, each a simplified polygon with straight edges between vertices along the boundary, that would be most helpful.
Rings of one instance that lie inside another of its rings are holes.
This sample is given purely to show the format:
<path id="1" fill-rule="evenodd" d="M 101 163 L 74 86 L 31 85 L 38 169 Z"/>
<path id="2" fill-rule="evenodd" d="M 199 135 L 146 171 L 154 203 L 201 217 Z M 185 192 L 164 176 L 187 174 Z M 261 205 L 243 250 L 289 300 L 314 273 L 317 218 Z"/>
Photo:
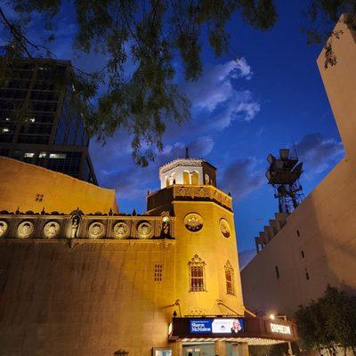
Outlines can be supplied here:
<path id="1" fill-rule="evenodd" d="M 279 213 L 290 213 L 303 200 L 303 188 L 299 178 L 303 173 L 303 163 L 291 155 L 288 149 L 279 150 L 279 158 L 268 155 L 270 164 L 266 172 L 269 184 L 274 188 L 274 198 L 279 199 Z"/>

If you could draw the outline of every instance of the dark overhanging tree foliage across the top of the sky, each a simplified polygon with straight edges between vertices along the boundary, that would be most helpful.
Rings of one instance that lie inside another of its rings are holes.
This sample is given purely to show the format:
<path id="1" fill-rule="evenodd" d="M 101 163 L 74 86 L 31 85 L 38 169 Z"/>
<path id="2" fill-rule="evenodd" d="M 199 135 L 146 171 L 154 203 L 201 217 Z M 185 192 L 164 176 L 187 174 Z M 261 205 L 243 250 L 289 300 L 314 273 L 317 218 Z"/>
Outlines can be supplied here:
<path id="1" fill-rule="evenodd" d="M 20 54 L 54 56 L 48 44 L 55 39 L 56 15 L 64 4 L 63 0 L 10 0 L 0 6 L 2 33 L 9 44 L 0 63 L 1 82 L 6 66 Z M 217 57 L 231 50 L 225 28 L 238 12 L 261 30 L 272 28 L 278 18 L 273 0 L 73 0 L 69 4 L 77 19 L 77 51 L 106 58 L 102 69 L 93 73 L 76 69 L 76 76 L 68 78 L 76 87 L 78 112 L 89 134 L 103 142 L 125 128 L 140 166 L 147 166 L 155 151 L 162 149 L 169 120 L 182 123 L 190 117 L 190 101 L 174 80 L 174 61 L 182 61 L 186 80 L 197 80 L 203 48 L 210 47 Z M 342 12 L 355 13 L 356 0 L 311 0 L 306 17 L 311 25 L 320 24 L 320 17 L 334 24 Z M 34 21 L 44 24 L 46 37 L 39 43 L 28 38 L 28 25 Z M 318 25 L 305 32 L 310 42 L 319 42 L 330 30 Z M 329 58 L 331 64 L 336 61 L 332 51 Z M 107 87 L 105 93 L 98 92 L 101 85 Z"/>

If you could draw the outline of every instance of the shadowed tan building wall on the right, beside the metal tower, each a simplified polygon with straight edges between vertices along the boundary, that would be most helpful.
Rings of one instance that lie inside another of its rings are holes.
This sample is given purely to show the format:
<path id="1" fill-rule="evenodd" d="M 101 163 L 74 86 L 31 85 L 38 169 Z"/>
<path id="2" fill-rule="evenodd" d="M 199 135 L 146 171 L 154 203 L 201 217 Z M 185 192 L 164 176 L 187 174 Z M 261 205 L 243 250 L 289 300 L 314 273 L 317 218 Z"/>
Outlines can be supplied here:
<path id="1" fill-rule="evenodd" d="M 344 34 L 333 40 L 336 66 L 323 68 L 324 53 L 318 65 L 346 158 L 241 271 L 247 308 L 263 314 L 292 314 L 299 304 L 323 295 L 328 284 L 356 293 L 356 42 L 342 21 L 338 29 Z"/>

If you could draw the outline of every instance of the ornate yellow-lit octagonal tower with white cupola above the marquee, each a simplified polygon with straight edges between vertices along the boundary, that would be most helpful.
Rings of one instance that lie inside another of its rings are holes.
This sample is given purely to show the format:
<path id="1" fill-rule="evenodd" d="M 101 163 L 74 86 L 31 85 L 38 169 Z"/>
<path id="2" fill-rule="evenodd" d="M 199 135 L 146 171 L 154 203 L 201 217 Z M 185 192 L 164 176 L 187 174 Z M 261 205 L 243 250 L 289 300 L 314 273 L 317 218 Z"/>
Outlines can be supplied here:
<path id="1" fill-rule="evenodd" d="M 244 314 L 232 201 L 216 188 L 216 168 L 178 158 L 161 166 L 148 214 L 175 217 L 174 295 L 184 315 Z"/>

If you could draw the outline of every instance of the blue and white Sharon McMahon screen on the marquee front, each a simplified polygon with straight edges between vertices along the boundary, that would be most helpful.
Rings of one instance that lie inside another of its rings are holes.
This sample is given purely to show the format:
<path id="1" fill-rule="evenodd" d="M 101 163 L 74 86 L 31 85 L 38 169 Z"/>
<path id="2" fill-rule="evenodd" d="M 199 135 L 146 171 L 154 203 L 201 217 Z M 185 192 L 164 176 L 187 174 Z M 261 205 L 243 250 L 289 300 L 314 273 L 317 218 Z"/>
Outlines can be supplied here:
<path id="1" fill-rule="evenodd" d="M 244 320 L 241 318 L 190 320 L 190 334 L 230 334 L 232 336 L 244 331 Z"/>

